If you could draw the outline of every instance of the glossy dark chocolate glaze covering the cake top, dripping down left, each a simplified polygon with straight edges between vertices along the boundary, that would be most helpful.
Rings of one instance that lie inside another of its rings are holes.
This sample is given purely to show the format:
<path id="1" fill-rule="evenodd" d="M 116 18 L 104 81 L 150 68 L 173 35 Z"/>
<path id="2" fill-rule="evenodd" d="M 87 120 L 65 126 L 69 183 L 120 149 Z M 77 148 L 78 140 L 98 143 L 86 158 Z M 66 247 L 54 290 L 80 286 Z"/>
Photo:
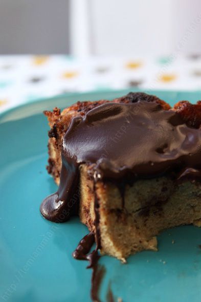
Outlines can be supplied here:
<path id="1" fill-rule="evenodd" d="M 127 175 L 153 178 L 172 170 L 178 175 L 184 169 L 189 175 L 194 175 L 195 169 L 199 173 L 200 129 L 186 125 L 174 110 L 138 99 L 126 104 L 105 103 L 72 120 L 63 137 L 58 191 L 40 207 L 45 218 L 66 221 L 78 212 L 82 163 L 90 166 L 95 183 Z M 95 204 L 98 212 L 98 201 Z"/>

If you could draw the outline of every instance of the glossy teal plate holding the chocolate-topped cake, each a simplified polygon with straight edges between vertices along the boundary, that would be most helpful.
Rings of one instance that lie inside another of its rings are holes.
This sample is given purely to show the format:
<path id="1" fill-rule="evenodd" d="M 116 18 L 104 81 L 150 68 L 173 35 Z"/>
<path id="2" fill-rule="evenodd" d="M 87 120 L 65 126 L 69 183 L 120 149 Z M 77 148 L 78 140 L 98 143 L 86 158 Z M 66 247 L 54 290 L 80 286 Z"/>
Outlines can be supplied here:
<path id="1" fill-rule="evenodd" d="M 77 100 L 112 99 L 128 91 L 69 94 L 16 107 L 0 116 L 0 299 L 12 302 L 90 301 L 92 271 L 72 251 L 87 228 L 78 218 L 55 224 L 44 220 L 39 205 L 56 190 L 45 169 L 48 124 L 42 111 Z M 171 104 L 200 99 L 200 92 L 150 92 Z M 174 244 L 173 244 L 174 243 Z M 201 300 L 201 230 L 177 227 L 159 236 L 159 251 L 145 251 L 122 264 L 100 259 L 115 301 Z"/>

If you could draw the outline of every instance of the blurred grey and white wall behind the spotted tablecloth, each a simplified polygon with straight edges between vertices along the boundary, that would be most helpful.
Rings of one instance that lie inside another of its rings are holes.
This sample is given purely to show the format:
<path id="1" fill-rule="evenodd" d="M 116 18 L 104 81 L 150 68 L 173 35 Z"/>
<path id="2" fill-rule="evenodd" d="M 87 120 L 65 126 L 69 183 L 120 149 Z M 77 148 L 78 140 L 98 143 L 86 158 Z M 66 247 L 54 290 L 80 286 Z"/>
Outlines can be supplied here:
<path id="1" fill-rule="evenodd" d="M 200 18 L 200 0 L 0 0 L 0 53 L 167 55 L 188 30 L 200 52 Z"/>

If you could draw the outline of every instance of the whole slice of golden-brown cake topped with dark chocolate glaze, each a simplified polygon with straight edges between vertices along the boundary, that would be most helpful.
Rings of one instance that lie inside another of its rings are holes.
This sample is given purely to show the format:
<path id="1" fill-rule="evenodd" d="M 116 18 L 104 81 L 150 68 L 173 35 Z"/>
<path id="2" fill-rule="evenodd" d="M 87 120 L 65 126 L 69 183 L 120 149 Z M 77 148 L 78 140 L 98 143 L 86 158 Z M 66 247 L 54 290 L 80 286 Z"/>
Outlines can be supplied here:
<path id="1" fill-rule="evenodd" d="M 201 225 L 200 102 L 171 108 L 129 93 L 45 114 L 48 172 L 59 185 L 41 204 L 45 218 L 79 213 L 101 253 L 119 259 L 157 250 L 164 229 Z"/>

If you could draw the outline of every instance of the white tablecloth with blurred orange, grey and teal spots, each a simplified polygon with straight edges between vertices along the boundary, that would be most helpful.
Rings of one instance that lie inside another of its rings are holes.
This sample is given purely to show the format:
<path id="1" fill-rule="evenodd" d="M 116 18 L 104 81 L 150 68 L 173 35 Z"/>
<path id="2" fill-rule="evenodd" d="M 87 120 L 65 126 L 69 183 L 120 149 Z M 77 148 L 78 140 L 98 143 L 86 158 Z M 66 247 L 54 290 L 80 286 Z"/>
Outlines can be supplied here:
<path id="1" fill-rule="evenodd" d="M 161 57 L 0 56 L 0 112 L 70 92 L 201 90 L 201 54 Z"/>

